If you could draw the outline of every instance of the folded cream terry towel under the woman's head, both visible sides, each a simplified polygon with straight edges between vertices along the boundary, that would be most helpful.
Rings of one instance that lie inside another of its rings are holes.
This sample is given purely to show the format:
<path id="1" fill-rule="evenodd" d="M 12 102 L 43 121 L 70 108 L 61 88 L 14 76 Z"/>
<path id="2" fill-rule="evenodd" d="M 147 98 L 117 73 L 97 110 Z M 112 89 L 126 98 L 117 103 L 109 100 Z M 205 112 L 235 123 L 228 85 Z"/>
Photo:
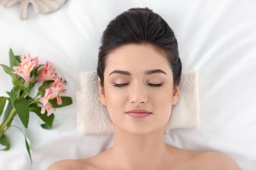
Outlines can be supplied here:
<path id="1" fill-rule="evenodd" d="M 81 72 L 76 91 L 76 123 L 81 135 L 113 134 L 114 125 L 107 107 L 101 104 L 96 71 Z M 172 106 L 171 117 L 164 127 L 164 133 L 176 128 L 197 128 L 199 119 L 198 72 L 181 73 L 179 99 Z"/>

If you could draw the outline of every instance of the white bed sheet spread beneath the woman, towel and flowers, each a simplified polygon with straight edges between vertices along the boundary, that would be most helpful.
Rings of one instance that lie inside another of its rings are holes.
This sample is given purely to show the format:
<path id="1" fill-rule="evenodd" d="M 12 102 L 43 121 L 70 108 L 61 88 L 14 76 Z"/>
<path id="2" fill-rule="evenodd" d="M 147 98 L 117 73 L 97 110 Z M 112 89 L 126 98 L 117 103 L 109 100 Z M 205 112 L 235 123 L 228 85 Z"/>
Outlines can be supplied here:
<path id="1" fill-rule="evenodd" d="M 67 85 L 73 104 L 58 108 L 52 130 L 30 113 L 28 129 L 19 117 L 12 125 L 28 137 L 33 164 L 23 134 L 6 131 L 9 151 L 0 151 L 0 169 L 45 170 L 62 159 L 81 159 L 113 145 L 113 135 L 81 136 L 76 129 L 75 91 L 78 74 L 97 67 L 100 36 L 108 22 L 132 7 L 148 7 L 172 27 L 178 40 L 183 70 L 199 71 L 200 121 L 198 129 L 175 129 L 166 143 L 198 152 L 222 152 L 243 170 L 256 169 L 256 1 L 84 1 L 68 0 L 58 11 L 34 14 L 20 20 L 20 4 L 0 6 L 0 63 L 9 65 L 9 48 L 15 55 L 51 60 Z M 0 96 L 12 87 L 0 68 Z M 37 92 L 37 91 L 35 91 Z M 3 116 L 2 116 L 3 117 Z M 0 119 L 2 122 L 2 118 Z"/>

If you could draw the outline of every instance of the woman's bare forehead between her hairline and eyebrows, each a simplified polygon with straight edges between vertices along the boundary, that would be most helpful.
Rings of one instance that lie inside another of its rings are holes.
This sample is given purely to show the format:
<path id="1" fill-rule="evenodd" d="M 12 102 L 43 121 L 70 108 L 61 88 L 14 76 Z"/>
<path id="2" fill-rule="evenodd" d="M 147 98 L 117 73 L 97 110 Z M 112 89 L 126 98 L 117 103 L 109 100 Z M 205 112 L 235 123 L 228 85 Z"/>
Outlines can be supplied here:
<path id="1" fill-rule="evenodd" d="M 144 74 L 147 70 L 161 69 L 168 76 L 172 75 L 166 58 L 148 44 L 129 44 L 118 48 L 108 55 L 105 76 L 113 70 L 129 71 L 131 74 Z"/>

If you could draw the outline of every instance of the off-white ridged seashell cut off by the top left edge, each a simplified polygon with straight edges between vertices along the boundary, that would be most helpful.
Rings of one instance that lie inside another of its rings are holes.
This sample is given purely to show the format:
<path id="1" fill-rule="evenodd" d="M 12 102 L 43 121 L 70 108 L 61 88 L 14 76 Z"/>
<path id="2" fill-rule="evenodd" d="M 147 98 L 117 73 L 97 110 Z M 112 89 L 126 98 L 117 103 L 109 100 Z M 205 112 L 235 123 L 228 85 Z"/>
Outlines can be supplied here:
<path id="1" fill-rule="evenodd" d="M 33 5 L 34 12 L 36 14 L 45 14 L 47 12 L 58 10 L 65 1 L 66 0 L 0 0 L 0 5 L 3 5 L 5 8 L 9 8 L 13 4 L 20 2 L 19 17 L 20 19 L 26 19 L 28 18 L 27 10 L 29 3 Z"/>

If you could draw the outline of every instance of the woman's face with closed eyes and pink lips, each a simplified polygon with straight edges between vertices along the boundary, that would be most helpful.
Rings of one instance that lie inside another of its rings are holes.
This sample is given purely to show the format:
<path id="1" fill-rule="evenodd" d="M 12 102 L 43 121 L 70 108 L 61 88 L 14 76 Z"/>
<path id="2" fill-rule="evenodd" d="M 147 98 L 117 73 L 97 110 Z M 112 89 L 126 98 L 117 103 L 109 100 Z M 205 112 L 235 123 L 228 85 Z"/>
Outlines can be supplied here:
<path id="1" fill-rule="evenodd" d="M 166 74 L 144 74 L 156 69 L 161 69 Z M 111 74 L 114 70 L 129 72 L 130 75 Z M 100 77 L 98 83 L 100 87 Z M 115 87 L 115 84 L 124 86 Z M 154 87 L 152 84 L 162 86 Z M 147 134 L 164 129 L 170 118 L 172 105 L 179 98 L 179 88 L 173 89 L 172 70 L 167 60 L 148 44 L 129 44 L 111 53 L 106 62 L 104 88 L 99 90 L 100 101 L 107 106 L 114 126 L 133 134 Z M 133 118 L 126 113 L 132 109 L 144 109 L 152 114 Z"/>

